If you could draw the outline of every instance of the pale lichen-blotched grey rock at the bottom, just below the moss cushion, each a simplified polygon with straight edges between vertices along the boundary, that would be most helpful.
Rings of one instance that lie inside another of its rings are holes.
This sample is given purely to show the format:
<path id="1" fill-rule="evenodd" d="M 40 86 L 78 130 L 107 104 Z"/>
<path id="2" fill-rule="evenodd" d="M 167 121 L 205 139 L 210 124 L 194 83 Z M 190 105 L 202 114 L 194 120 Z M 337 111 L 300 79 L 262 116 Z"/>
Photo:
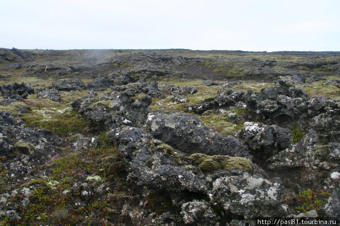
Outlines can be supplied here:
<path id="1" fill-rule="evenodd" d="M 280 203 L 283 191 L 280 180 L 269 181 L 245 173 L 216 179 L 208 194 L 214 205 L 223 206 L 226 212 L 252 219 L 287 215 Z"/>

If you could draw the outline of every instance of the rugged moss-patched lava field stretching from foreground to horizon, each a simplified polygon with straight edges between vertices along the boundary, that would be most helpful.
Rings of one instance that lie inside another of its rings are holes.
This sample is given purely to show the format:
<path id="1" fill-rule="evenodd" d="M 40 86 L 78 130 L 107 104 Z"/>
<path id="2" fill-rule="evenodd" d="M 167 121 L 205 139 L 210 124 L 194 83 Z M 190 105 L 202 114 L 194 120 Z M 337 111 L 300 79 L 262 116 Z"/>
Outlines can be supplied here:
<path id="1" fill-rule="evenodd" d="M 339 217 L 340 53 L 0 48 L 1 225 Z"/>

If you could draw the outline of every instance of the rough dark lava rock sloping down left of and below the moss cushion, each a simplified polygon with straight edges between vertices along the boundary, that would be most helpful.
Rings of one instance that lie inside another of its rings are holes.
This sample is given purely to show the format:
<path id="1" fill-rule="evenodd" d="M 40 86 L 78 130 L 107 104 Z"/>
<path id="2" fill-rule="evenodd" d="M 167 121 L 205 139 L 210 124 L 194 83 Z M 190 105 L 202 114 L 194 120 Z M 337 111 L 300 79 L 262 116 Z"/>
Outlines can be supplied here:
<path id="1" fill-rule="evenodd" d="M 128 179 L 149 189 L 167 192 L 206 191 L 202 173 L 178 165 L 179 154 L 169 145 L 153 139 L 150 133 L 125 126 L 107 133 L 111 142 L 129 161 Z M 198 170 L 199 171 L 199 170 Z"/>

